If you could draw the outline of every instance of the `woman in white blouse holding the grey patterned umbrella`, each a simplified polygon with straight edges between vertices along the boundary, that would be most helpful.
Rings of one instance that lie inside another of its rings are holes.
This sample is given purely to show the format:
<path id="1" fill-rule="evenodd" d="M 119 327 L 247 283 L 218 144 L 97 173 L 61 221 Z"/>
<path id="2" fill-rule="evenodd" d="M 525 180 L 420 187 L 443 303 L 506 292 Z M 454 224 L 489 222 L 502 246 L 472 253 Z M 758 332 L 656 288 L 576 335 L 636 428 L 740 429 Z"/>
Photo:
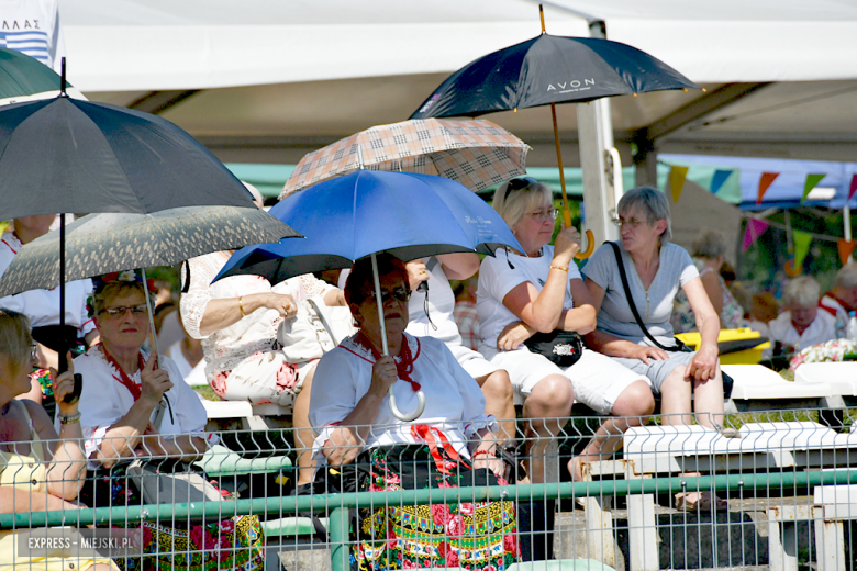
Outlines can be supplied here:
<path id="1" fill-rule="evenodd" d="M 149 331 L 142 279 L 134 271 L 104 278 L 94 280 L 90 303 L 101 343 L 75 359 L 85 378 L 80 425 L 86 454 L 98 467 L 87 478 L 81 499 L 91 507 L 142 505 L 143 494 L 126 472 L 130 461 L 157 462 L 164 473 L 182 471 L 179 468 L 205 452 L 208 418 L 172 359 L 142 350 Z M 154 292 L 149 295 L 154 304 Z M 126 570 L 264 567 L 264 537 L 256 516 L 224 513 L 222 520 L 215 516 L 204 525 L 179 517 L 112 524 L 143 528 L 145 557 L 121 560 Z"/>

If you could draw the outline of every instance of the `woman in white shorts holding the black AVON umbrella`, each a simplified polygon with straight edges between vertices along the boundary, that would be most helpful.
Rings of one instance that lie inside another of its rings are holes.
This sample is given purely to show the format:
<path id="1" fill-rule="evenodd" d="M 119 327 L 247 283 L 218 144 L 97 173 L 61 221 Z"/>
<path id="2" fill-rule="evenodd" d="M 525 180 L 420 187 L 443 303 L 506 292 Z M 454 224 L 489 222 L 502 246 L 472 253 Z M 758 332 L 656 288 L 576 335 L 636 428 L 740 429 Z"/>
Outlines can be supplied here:
<path id="1" fill-rule="evenodd" d="M 599 414 L 632 417 L 606 419 L 587 446 L 586 456 L 615 451 L 622 433 L 652 414 L 655 403 L 646 378 L 610 358 L 583 350 L 565 370 L 530 351 L 523 342 L 536 332 L 554 329 L 585 335 L 596 327 L 596 310 L 572 258 L 580 234 L 565 228 L 549 246 L 557 211 L 550 189 L 532 178 L 512 179 L 494 193 L 493 206 L 526 251 L 498 250 L 482 260 L 477 312 L 482 332 L 479 351 L 505 369 L 512 385 L 524 396 L 528 436 L 535 438 L 530 456 L 530 479 L 543 481 L 541 457 L 550 436 L 561 426 L 545 418 L 565 418 L 577 399 Z M 570 382 L 569 382 L 570 381 Z M 538 464 L 536 463 L 538 462 Z M 581 480 L 581 458 L 569 461 L 575 480 Z"/>

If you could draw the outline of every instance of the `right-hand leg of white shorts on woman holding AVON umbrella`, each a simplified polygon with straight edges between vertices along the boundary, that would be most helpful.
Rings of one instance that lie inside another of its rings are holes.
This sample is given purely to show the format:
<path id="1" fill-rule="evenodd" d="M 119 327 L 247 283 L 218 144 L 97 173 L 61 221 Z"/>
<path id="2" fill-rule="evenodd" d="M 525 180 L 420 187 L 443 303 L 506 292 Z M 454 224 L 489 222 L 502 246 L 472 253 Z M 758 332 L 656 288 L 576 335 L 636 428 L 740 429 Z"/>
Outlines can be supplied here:
<path id="1" fill-rule="evenodd" d="M 644 381 L 650 385 L 645 374 L 590 349 L 583 349 L 580 360 L 568 367 L 565 376 L 575 388 L 575 401 L 604 415 L 613 411 L 619 395 L 633 383 Z"/>

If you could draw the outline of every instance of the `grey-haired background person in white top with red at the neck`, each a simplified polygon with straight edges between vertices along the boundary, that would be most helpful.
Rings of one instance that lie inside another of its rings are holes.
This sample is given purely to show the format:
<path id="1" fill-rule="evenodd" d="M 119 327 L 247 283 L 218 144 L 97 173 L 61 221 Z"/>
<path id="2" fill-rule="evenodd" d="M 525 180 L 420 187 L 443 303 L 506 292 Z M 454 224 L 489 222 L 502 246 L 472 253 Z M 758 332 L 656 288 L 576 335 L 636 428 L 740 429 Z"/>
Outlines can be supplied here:
<path id="1" fill-rule="evenodd" d="M 794 278 L 786 286 L 784 309 L 768 324 L 771 343 L 782 344 L 786 352 L 836 338 L 835 320 L 827 312 L 819 311 L 819 282 L 809 276 Z"/>

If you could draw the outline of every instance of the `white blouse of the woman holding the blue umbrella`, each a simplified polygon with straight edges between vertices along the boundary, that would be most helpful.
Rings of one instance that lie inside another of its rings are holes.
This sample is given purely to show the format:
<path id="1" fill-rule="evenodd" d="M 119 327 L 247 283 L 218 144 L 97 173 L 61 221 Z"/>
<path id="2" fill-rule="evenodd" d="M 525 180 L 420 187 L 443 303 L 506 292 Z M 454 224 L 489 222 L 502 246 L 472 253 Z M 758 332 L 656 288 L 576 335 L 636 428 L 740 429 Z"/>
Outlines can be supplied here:
<path id="1" fill-rule="evenodd" d="M 411 426 L 424 424 L 443 432 L 453 447 L 469 458 L 467 443 L 481 428 L 492 428 L 494 418 L 485 414 L 485 398 L 479 384 L 458 365 L 446 345 L 433 337 L 403 334 L 413 356 L 411 379 L 421 384 L 425 410 L 419 418 L 403 422 L 392 415 L 389 396 L 385 396 L 366 440 L 366 448 L 396 444 L 422 444 Z M 342 422 L 368 392 L 375 357 L 356 342 L 357 335 L 343 340 L 324 357 L 315 369 L 310 398 L 310 425 L 320 434 L 318 450 L 330 439 L 333 426 Z M 397 362 L 400 361 L 396 358 Z M 399 380 L 393 385 L 396 404 L 401 412 L 416 408 L 418 399 L 411 383 Z"/>

